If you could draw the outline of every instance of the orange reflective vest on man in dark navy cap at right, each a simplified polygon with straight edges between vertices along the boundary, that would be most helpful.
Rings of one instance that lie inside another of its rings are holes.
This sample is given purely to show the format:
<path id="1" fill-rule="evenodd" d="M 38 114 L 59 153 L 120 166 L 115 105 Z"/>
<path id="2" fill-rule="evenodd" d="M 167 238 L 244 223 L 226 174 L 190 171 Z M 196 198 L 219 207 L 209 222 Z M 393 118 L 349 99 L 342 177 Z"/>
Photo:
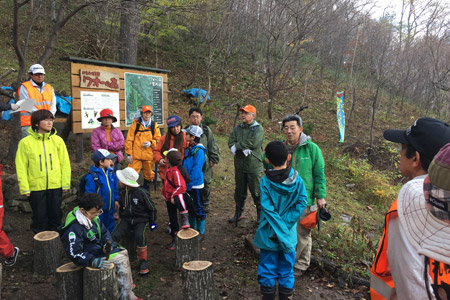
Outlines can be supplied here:
<path id="1" fill-rule="evenodd" d="M 387 244 L 389 232 L 389 220 L 398 216 L 397 200 L 391 205 L 386 214 L 383 236 L 378 246 L 377 256 L 370 269 L 370 296 L 372 300 L 389 300 L 395 295 L 394 280 L 391 276 L 391 269 L 387 257 Z"/>

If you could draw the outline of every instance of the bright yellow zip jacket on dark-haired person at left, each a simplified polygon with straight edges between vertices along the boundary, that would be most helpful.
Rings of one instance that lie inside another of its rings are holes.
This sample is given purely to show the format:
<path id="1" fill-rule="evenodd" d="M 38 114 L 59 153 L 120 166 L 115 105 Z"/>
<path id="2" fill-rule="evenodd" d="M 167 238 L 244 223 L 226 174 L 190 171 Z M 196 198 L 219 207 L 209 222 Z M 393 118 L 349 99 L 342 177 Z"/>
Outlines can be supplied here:
<path id="1" fill-rule="evenodd" d="M 31 127 L 29 136 L 19 142 L 16 172 L 22 195 L 34 191 L 70 189 L 70 159 L 66 144 L 53 128 L 37 133 Z"/>

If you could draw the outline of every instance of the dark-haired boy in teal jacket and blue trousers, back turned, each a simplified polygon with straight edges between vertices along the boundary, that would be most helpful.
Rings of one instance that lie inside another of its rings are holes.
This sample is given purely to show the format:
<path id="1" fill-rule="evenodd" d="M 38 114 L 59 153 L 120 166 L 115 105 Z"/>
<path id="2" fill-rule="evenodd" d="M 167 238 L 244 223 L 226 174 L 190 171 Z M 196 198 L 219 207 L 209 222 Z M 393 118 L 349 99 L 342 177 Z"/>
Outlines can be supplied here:
<path id="1" fill-rule="evenodd" d="M 261 179 L 261 217 L 253 241 L 261 249 L 258 282 L 263 299 L 293 299 L 297 220 L 307 204 L 305 186 L 297 171 L 287 167 L 290 154 L 280 141 L 267 144 L 266 170 Z"/>

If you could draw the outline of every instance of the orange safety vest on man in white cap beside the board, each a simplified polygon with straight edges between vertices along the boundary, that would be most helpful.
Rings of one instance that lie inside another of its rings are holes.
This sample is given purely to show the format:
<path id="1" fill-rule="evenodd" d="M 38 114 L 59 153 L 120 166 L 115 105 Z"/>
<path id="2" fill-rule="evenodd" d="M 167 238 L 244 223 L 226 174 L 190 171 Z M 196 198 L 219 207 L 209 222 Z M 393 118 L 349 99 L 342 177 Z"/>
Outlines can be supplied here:
<path id="1" fill-rule="evenodd" d="M 51 111 L 53 102 L 53 88 L 50 84 L 45 84 L 44 92 L 41 92 L 33 86 L 31 81 L 25 81 L 22 86 L 27 89 L 28 98 L 34 99 L 34 107 L 37 110 L 46 109 Z M 20 87 L 20 88 L 23 88 Z M 20 111 L 20 126 L 31 126 L 31 113 L 26 110 Z"/>

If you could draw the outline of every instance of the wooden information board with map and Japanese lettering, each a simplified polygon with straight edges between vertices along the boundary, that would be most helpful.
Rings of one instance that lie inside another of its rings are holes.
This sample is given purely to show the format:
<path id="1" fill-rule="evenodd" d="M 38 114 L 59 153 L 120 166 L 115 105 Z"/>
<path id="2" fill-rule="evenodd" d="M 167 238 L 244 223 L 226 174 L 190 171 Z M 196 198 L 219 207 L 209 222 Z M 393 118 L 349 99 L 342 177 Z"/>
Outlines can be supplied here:
<path id="1" fill-rule="evenodd" d="M 92 122 L 96 122 L 101 109 L 113 108 L 82 107 L 82 95 L 84 95 L 85 103 L 88 102 L 87 99 L 98 96 L 99 101 L 91 100 L 89 103 L 102 103 L 101 106 L 103 106 L 107 105 L 107 99 L 117 101 L 117 95 L 115 94 L 118 94 L 118 109 L 120 111 L 118 118 L 120 119 L 121 130 L 128 130 L 131 124 L 130 120 L 138 116 L 138 112 L 143 105 L 151 105 L 153 107 L 153 119 L 156 120 L 159 127 L 166 127 L 165 119 L 168 117 L 169 92 L 166 73 L 169 72 L 168 70 L 72 57 L 67 60 L 71 61 L 70 83 L 73 97 L 71 110 L 73 133 L 92 132 L 93 128 L 86 128 L 88 127 L 86 124 L 93 125 L 94 123 Z M 90 76 L 88 84 L 86 84 L 86 80 L 82 83 L 82 76 L 85 74 Z M 100 76 L 96 78 L 96 75 Z M 119 82 L 117 84 L 118 89 L 115 89 L 114 83 L 117 81 L 117 75 Z M 112 80 L 108 81 L 108 78 Z M 111 103 L 111 106 L 116 106 L 116 104 L 116 102 Z M 95 128 L 95 126 L 90 127 Z"/>

